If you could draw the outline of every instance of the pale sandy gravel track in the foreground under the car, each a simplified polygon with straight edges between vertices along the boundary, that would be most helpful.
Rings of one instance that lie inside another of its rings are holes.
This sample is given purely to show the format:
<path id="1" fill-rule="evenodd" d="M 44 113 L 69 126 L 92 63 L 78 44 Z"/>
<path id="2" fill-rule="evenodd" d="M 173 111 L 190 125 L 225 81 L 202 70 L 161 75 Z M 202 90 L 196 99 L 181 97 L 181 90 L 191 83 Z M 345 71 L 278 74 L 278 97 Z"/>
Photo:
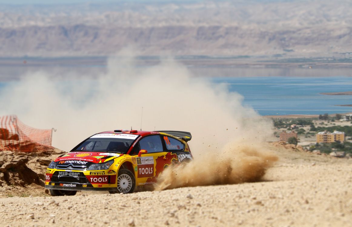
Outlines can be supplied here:
<path id="1" fill-rule="evenodd" d="M 351 225 L 352 159 L 272 149 L 280 159 L 262 182 L 0 198 L 1 226 Z"/>

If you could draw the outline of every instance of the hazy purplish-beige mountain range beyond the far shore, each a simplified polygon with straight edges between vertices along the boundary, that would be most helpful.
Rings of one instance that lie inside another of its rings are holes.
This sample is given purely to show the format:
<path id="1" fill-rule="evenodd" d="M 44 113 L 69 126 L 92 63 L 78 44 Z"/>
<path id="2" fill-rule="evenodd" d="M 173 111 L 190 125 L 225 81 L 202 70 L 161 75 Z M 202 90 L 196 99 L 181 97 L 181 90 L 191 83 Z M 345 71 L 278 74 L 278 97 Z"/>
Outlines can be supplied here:
<path id="1" fill-rule="evenodd" d="M 0 5 L 0 56 L 329 56 L 351 43 L 340 0 Z"/>

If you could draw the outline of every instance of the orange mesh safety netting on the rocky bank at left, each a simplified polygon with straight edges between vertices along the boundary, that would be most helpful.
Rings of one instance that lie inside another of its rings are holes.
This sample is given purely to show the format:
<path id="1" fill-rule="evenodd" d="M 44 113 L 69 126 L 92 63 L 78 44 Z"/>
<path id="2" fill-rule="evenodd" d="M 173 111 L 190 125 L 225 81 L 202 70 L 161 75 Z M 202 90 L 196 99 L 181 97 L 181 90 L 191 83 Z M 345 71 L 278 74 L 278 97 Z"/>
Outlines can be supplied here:
<path id="1" fill-rule="evenodd" d="M 0 116 L 0 151 L 43 151 L 51 146 L 51 129 L 32 128 L 16 115 Z"/>

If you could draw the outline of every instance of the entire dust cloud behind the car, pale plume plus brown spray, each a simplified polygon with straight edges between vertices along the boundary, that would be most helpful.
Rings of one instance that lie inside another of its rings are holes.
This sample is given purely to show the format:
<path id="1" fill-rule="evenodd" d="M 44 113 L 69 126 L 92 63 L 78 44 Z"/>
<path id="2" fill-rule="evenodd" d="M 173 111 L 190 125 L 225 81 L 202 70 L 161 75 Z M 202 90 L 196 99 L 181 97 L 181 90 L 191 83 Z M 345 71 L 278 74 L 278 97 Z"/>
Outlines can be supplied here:
<path id="1" fill-rule="evenodd" d="M 254 181 L 264 174 L 274 159 L 258 146 L 271 134 L 272 123 L 243 106 L 241 95 L 229 92 L 226 84 L 193 77 L 171 58 L 149 68 L 134 65 L 133 57 L 111 57 L 107 72 L 94 78 L 67 79 L 41 71 L 24 75 L 1 89 L 0 115 L 17 114 L 29 126 L 56 128 L 52 145 L 66 151 L 94 133 L 114 129 L 139 130 L 142 125 L 146 131 L 188 131 L 195 161 L 184 173 L 209 176 L 206 184 Z M 241 141 L 236 143 L 240 147 L 226 148 L 233 141 Z M 213 156 L 222 158 L 209 163 Z M 171 177 L 170 171 L 163 176 Z M 197 182 L 191 176 L 183 179 L 181 185 Z"/>

